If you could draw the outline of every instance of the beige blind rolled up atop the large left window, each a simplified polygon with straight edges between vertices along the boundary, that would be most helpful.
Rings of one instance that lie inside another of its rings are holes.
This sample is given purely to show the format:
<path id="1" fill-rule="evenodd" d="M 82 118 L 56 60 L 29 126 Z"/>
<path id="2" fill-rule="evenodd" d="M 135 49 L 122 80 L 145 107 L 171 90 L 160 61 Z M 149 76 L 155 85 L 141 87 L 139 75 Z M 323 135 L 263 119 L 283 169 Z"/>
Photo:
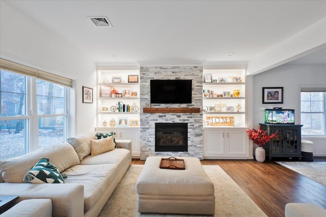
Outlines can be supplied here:
<path id="1" fill-rule="evenodd" d="M 59 75 L 37 70 L 32 67 L 24 66 L 21 64 L 17 64 L 7 59 L 0 58 L 0 69 L 4 71 L 9 71 L 9 72 L 41 79 L 51 83 L 72 87 L 72 80 L 69 78 L 65 78 Z"/>

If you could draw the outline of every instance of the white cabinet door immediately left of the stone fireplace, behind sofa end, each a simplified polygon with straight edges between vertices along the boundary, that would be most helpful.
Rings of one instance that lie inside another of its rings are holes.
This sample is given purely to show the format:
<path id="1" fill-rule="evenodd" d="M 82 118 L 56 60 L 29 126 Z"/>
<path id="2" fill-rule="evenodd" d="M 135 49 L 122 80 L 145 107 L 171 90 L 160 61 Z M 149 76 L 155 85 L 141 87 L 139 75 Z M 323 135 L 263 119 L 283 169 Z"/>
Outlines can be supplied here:
<path id="1" fill-rule="evenodd" d="M 132 150 L 131 150 L 131 155 L 132 157 L 140 157 L 140 133 L 138 129 L 119 129 L 117 131 L 117 137 L 119 139 L 129 139 L 132 142 Z"/>

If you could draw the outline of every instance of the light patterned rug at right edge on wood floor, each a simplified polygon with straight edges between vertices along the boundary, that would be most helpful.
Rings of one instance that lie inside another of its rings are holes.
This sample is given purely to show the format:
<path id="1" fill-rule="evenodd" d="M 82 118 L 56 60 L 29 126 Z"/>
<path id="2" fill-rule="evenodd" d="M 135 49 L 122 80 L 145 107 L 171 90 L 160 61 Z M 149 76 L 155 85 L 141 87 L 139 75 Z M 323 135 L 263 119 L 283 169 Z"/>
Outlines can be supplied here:
<path id="1" fill-rule="evenodd" d="M 326 162 L 276 162 L 326 186 Z"/>

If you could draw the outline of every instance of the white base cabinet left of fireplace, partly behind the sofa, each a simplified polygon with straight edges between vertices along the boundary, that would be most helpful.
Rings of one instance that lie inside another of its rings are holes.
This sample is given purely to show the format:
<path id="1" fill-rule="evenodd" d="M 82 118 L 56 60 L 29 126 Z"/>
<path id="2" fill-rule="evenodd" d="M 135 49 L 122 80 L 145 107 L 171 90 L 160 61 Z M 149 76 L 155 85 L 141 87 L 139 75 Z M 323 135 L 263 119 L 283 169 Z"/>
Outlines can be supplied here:
<path id="1" fill-rule="evenodd" d="M 131 155 L 133 158 L 140 158 L 140 128 L 133 127 L 97 127 L 95 128 L 96 132 L 99 133 L 108 133 L 115 132 L 116 139 L 129 139 L 131 140 Z"/>

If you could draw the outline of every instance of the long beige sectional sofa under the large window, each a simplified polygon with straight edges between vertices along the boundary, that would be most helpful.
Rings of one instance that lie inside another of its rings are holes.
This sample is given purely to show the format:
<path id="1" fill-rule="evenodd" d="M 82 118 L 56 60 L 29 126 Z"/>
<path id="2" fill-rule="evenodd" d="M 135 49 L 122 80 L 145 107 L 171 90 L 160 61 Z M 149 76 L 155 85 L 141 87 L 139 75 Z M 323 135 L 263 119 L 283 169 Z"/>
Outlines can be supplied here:
<path id="1" fill-rule="evenodd" d="M 95 134 L 71 137 L 0 162 L 0 194 L 19 196 L 17 203 L 51 199 L 52 216 L 97 216 L 131 163 L 131 141 L 116 140 L 118 148 L 91 156 Z M 45 157 L 67 175 L 65 183 L 24 183 L 24 175 Z"/>

